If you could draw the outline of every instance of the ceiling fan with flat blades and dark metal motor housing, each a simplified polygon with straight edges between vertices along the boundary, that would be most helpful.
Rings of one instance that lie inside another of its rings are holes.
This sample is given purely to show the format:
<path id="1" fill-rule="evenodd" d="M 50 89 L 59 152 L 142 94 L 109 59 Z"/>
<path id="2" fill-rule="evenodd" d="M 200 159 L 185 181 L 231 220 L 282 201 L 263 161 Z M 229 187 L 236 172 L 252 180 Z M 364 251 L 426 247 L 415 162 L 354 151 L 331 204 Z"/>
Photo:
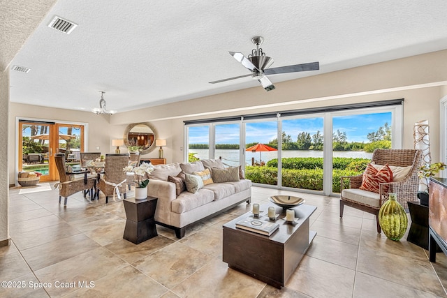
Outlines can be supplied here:
<path id="1" fill-rule="evenodd" d="M 305 64 L 295 64 L 289 66 L 281 66 L 275 68 L 268 68 L 273 64 L 273 59 L 265 56 L 263 49 L 259 47 L 264 41 L 262 36 L 254 36 L 251 38 L 251 42 L 256 45 L 256 49 L 251 50 L 249 57 L 245 57 L 244 54 L 240 52 L 229 52 L 231 56 L 239 61 L 242 66 L 251 71 L 248 75 L 240 75 L 238 77 L 230 77 L 228 79 L 218 80 L 210 82 L 210 84 L 216 84 L 220 82 L 226 82 L 229 80 L 239 79 L 240 77 L 248 77 L 251 75 L 255 80 L 263 85 L 265 91 L 270 91 L 274 89 L 274 85 L 266 75 L 277 75 L 280 73 L 296 73 L 298 71 L 308 71 L 308 70 L 318 70 L 320 69 L 320 64 L 318 62 L 305 63 Z"/>

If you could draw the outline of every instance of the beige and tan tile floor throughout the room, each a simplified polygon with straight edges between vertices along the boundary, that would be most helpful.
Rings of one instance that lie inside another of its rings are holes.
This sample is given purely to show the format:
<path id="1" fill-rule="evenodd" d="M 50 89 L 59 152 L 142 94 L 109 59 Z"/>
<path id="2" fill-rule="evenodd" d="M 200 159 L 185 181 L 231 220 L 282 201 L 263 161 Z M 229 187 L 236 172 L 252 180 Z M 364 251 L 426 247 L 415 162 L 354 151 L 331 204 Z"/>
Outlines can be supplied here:
<path id="1" fill-rule="evenodd" d="M 254 187 L 252 202 L 287 193 Z M 0 288 L 0 297 L 447 297 L 443 253 L 432 264 L 406 236 L 377 234 L 372 215 L 346 207 L 341 220 L 337 198 L 301 196 L 318 207 L 310 218 L 318 234 L 278 290 L 222 262 L 221 226 L 251 210 L 247 204 L 194 225 L 183 239 L 157 226 L 158 237 L 135 245 L 122 239 L 122 202 L 78 193 L 64 208 L 57 190 L 10 188 L 12 241 L 0 248 L 0 281 L 22 287 Z"/>

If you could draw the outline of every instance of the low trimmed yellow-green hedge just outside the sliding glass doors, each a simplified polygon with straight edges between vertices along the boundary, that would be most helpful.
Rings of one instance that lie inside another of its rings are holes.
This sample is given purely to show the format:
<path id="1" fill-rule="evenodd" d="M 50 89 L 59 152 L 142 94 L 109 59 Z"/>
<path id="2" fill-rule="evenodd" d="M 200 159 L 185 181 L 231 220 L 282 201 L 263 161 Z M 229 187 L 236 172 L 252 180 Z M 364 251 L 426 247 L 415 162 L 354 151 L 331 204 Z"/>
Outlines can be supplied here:
<path id="1" fill-rule="evenodd" d="M 277 167 L 256 167 L 248 166 L 245 168 L 245 177 L 254 183 L 277 185 Z M 340 177 L 353 176 L 363 172 L 355 170 L 339 170 L 332 171 L 332 191 L 334 193 L 340 192 Z M 282 186 L 312 189 L 314 191 L 323 190 L 323 170 L 282 170 Z"/>

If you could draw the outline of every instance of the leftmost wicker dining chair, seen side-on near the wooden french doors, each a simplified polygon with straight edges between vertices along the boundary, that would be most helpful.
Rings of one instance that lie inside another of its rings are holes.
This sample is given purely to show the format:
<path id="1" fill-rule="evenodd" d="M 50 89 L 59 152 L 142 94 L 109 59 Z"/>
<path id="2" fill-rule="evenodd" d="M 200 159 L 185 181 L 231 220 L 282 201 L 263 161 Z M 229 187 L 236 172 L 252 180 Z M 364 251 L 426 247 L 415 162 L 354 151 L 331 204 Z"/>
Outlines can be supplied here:
<path id="1" fill-rule="evenodd" d="M 86 198 L 87 191 L 90 193 L 90 198 L 93 198 L 96 186 L 94 177 L 87 177 L 87 171 L 75 172 L 76 175 L 84 174 L 83 177 L 79 178 L 76 178 L 75 174 L 68 172 L 65 165 L 65 154 L 54 154 L 54 162 L 59 172 L 59 182 L 54 185 L 59 188 L 59 204 L 61 203 L 61 197 L 64 197 L 64 206 L 66 206 L 67 198 L 79 191 L 83 191 L 84 198 Z"/>

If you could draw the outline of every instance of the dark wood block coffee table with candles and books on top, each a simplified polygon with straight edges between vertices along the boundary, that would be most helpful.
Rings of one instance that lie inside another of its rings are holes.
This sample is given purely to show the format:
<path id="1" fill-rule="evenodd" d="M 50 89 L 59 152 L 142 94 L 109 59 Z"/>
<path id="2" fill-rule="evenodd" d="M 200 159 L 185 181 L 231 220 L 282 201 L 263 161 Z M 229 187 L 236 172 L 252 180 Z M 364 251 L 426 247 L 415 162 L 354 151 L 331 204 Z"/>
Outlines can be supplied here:
<path id="1" fill-rule="evenodd" d="M 295 217 L 299 219 L 296 223 L 287 223 L 286 211 L 281 207 L 273 203 L 263 204 L 261 220 L 269 221 L 267 211 L 270 206 L 280 214 L 275 221 L 279 223 L 279 229 L 270 237 L 236 228 L 238 221 L 253 216 L 251 212 L 223 225 L 223 262 L 230 268 L 281 288 L 316 236 L 316 232 L 309 231 L 309 217 L 316 207 L 302 204 L 293 208 Z"/>

